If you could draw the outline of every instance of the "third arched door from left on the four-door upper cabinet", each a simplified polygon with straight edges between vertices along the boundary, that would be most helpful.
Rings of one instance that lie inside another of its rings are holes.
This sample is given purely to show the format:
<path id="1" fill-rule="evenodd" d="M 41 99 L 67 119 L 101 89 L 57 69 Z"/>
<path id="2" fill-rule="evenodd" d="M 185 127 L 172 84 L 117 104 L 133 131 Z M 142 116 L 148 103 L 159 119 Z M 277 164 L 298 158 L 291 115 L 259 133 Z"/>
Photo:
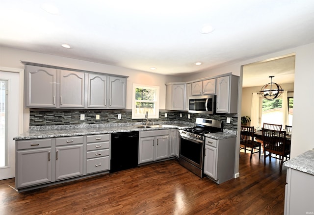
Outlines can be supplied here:
<path id="1" fill-rule="evenodd" d="M 88 74 L 88 108 L 106 108 L 107 76 Z"/>

